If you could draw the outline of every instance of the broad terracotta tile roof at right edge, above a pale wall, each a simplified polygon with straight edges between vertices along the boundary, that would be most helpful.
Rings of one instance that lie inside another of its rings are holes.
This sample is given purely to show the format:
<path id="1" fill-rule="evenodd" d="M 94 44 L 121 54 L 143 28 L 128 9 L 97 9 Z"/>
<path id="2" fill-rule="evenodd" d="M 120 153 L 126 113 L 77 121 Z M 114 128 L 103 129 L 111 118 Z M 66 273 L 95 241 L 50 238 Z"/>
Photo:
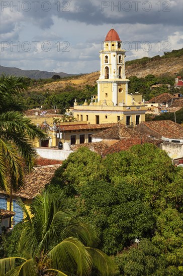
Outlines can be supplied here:
<path id="1" fill-rule="evenodd" d="M 183 126 L 170 120 L 143 122 L 154 132 L 169 139 L 183 139 Z"/>

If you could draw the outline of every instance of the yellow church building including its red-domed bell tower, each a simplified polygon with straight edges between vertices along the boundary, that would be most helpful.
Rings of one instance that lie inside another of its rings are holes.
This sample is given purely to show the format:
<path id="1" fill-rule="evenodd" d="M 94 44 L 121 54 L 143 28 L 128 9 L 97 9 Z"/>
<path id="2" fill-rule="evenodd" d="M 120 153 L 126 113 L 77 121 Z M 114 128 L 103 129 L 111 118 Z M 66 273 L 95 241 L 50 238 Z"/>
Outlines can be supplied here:
<path id="1" fill-rule="evenodd" d="M 75 100 L 72 109 L 78 121 L 91 124 L 116 123 L 125 125 L 145 121 L 145 105 L 142 98 L 136 101 L 135 95 L 128 94 L 129 80 L 125 76 L 125 51 L 122 41 L 111 29 L 100 52 L 101 71 L 98 83 L 98 99 L 88 105 L 78 105 Z"/>

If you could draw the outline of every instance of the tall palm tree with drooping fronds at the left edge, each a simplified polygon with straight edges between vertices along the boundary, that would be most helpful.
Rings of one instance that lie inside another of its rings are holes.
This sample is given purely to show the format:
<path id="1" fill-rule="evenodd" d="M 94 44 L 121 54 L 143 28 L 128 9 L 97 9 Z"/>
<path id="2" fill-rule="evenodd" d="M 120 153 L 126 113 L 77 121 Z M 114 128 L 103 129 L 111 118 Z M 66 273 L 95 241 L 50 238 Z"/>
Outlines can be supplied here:
<path id="1" fill-rule="evenodd" d="M 19 96 L 25 88 L 23 77 L 0 77 L 0 188 L 11 197 L 10 210 L 12 192 L 24 186 L 24 174 L 34 166 L 37 154 L 32 141 L 47 137 L 20 112 Z"/>

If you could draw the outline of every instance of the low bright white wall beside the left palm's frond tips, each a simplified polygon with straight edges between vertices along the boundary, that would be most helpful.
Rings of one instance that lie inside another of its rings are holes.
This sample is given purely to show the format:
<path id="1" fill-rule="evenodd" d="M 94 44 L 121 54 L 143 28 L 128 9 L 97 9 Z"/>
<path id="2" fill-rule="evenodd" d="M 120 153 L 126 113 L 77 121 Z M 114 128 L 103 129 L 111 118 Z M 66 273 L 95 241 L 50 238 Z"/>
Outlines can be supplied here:
<path id="1" fill-rule="evenodd" d="M 64 151 L 58 149 L 45 149 L 45 148 L 36 148 L 38 155 L 42 158 L 53 159 L 53 160 L 65 160 L 73 151 Z"/>

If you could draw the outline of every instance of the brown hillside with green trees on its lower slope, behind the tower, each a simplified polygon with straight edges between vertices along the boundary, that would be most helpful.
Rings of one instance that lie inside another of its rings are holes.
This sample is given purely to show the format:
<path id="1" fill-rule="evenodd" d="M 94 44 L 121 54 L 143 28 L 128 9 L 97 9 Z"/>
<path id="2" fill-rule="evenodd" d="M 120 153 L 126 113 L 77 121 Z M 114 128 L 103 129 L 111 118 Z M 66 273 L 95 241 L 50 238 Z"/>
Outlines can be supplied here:
<path id="1" fill-rule="evenodd" d="M 128 92 L 132 94 L 139 92 L 145 100 L 164 92 L 173 94 L 177 90 L 177 92 L 182 93 L 182 89 L 174 89 L 173 87 L 175 76 L 183 74 L 181 68 L 182 52 L 181 49 L 166 53 L 162 57 L 156 56 L 128 61 L 126 63 L 126 75 L 130 80 Z M 176 64 L 176 68 L 173 67 L 173 64 Z M 160 70 L 160 67 L 163 68 L 163 71 Z M 171 68 L 171 73 L 167 73 L 167 68 Z M 128 72 L 132 72 L 131 75 Z M 155 73 L 153 74 L 153 72 Z M 138 77 L 139 74 L 143 77 Z M 93 72 L 72 77 L 67 76 L 57 80 L 53 78 L 39 80 L 27 78 L 26 82 L 29 89 L 22 94 L 22 105 L 25 110 L 40 106 L 43 109 L 51 109 L 54 106 L 62 114 L 67 108 L 73 106 L 74 99 L 79 104 L 82 104 L 85 99 L 90 103 L 91 97 L 97 94 L 96 80 L 99 79 L 99 76 L 99 72 Z M 162 86 L 151 90 L 150 86 L 157 83 L 161 83 Z M 167 84 L 170 85 L 170 88 L 167 87 Z"/>

